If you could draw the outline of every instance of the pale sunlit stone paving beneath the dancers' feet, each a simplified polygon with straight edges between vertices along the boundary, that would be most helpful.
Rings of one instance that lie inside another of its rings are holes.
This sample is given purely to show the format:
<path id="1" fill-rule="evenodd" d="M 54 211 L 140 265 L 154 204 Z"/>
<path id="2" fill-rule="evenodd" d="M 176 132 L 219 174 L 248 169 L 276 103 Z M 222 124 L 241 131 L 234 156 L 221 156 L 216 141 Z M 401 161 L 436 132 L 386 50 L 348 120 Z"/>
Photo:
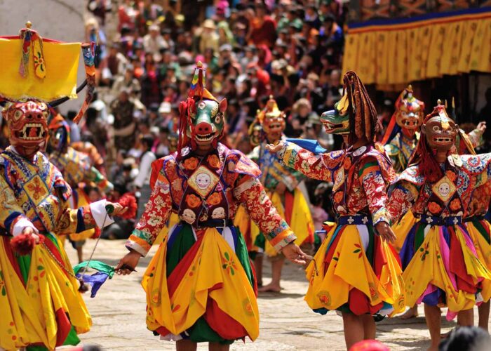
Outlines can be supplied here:
<path id="1" fill-rule="evenodd" d="M 90 240 L 86 244 L 86 257 L 94 243 Z M 116 265 L 126 253 L 123 244 L 123 241 L 101 240 L 94 258 Z M 76 263 L 74 250 L 68 245 L 67 252 Z M 155 248 L 149 257 L 154 252 Z M 173 343 L 159 340 L 145 327 L 145 296 L 140 279 L 149 257 L 140 260 L 137 273 L 115 276 L 108 281 L 95 298 L 85 295 L 93 328 L 81 336 L 83 344 L 100 345 L 104 350 L 173 350 Z M 265 267 L 265 272 L 269 272 L 269 266 Z M 231 350 L 345 350 L 341 317 L 334 312 L 325 316 L 315 314 L 304 303 L 307 282 L 300 268 L 287 263 L 284 278 L 281 294 L 260 295 L 260 337 L 255 343 L 250 340 L 245 344 L 234 343 Z M 266 275 L 264 282 L 268 280 Z M 421 308 L 419 312 L 422 314 Z M 455 325 L 444 318 L 442 321 L 443 331 Z M 429 333 L 423 317 L 410 321 L 394 318 L 377 324 L 377 338 L 392 350 L 425 350 Z M 199 350 L 208 350 L 208 347 L 203 344 Z"/>

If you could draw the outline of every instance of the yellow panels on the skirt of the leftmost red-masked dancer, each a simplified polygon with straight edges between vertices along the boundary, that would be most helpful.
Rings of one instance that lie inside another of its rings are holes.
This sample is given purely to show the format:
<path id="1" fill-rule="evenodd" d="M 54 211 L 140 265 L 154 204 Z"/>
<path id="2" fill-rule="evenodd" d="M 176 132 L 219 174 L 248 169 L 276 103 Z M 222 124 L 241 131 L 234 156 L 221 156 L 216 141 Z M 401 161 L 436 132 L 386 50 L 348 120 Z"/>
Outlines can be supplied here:
<path id="1" fill-rule="evenodd" d="M 68 267 L 72 270 L 71 265 Z M 79 281 L 67 277 L 43 246 L 37 245 L 32 251 L 25 287 L 6 256 L 4 241 L 0 240 L 0 272 L 0 347 L 16 350 L 43 343 L 54 350 L 55 311 L 60 308 L 67 312 L 77 333 L 90 329 L 92 320 L 78 291 Z"/>

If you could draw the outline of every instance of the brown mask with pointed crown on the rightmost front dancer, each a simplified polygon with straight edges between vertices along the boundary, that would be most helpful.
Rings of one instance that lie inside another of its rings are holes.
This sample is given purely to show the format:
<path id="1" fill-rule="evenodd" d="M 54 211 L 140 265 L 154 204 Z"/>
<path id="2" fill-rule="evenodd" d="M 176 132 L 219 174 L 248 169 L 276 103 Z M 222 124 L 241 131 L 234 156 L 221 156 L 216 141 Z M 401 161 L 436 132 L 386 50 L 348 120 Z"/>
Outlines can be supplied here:
<path id="1" fill-rule="evenodd" d="M 426 143 L 432 150 L 449 151 L 455 145 L 458 126 L 448 117 L 445 106 L 440 101 L 428 117 L 421 127 Z"/>

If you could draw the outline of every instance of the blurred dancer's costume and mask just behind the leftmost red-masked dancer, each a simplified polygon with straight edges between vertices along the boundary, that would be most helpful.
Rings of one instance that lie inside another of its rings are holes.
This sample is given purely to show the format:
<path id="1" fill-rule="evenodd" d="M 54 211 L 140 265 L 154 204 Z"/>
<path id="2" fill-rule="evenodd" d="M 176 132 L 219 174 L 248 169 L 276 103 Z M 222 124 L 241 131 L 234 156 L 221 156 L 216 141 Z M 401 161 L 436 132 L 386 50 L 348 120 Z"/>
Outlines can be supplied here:
<path id="1" fill-rule="evenodd" d="M 90 185 L 95 183 L 102 192 L 109 192 L 113 185 L 107 181 L 105 176 L 92 166 L 92 162 L 87 154 L 76 151 L 70 147 L 69 126 L 65 119 L 58 114 L 51 119 L 48 124 L 50 130 L 50 140 L 48 143 L 49 160 L 62 173 L 63 178 L 72 187 L 72 196 L 69 204 L 72 208 L 78 208 L 89 204 L 88 194 L 80 187 L 81 183 Z M 98 236 L 99 230 L 91 229 L 78 234 L 70 234 L 73 241 L 83 241 L 84 239 Z"/>

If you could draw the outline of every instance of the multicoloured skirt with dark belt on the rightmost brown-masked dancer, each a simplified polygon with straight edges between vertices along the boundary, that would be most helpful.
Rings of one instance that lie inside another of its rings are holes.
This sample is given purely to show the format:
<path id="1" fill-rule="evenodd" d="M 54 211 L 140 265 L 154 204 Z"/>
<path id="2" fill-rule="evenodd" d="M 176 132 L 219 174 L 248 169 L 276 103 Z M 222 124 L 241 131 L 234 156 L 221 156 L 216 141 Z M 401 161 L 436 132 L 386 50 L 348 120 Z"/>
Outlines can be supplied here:
<path id="1" fill-rule="evenodd" d="M 480 234 L 479 234 L 480 235 Z M 476 304 L 478 293 L 489 299 L 483 282 L 490 279 L 460 217 L 422 216 L 400 252 L 406 303 L 447 306 L 447 319 Z"/>

